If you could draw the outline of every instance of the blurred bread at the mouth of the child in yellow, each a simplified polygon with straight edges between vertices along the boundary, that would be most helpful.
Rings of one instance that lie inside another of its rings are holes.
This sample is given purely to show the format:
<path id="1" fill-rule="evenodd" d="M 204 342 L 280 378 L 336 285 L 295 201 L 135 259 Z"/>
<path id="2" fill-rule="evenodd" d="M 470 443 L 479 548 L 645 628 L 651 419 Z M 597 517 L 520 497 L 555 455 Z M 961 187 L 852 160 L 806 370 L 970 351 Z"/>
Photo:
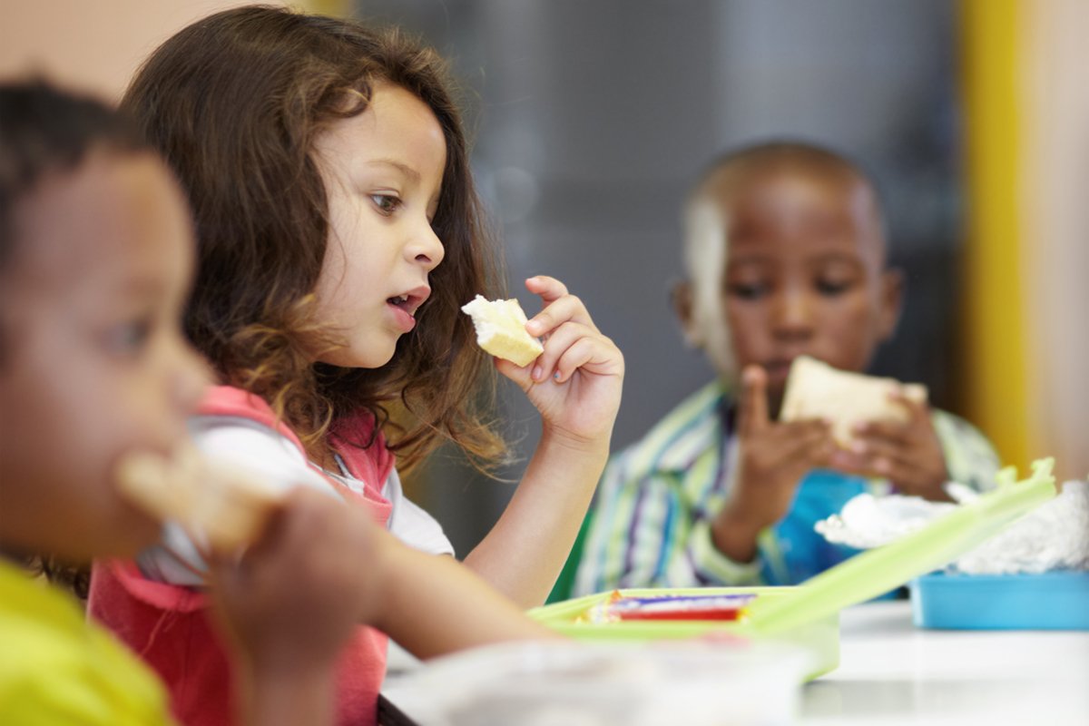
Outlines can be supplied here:
<path id="1" fill-rule="evenodd" d="M 196 541 L 228 553 L 260 536 L 285 494 L 193 450 L 172 457 L 131 452 L 118 463 L 114 478 L 122 495 L 156 519 L 176 521 Z"/>

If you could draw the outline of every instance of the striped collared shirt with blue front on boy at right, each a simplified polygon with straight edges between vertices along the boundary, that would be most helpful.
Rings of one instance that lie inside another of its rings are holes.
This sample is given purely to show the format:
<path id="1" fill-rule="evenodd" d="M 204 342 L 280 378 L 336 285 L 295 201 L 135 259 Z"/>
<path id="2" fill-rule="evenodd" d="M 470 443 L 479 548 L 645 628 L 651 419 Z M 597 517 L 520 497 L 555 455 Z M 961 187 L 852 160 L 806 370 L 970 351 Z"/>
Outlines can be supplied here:
<path id="1" fill-rule="evenodd" d="M 994 485 L 999 458 L 971 424 L 934 410 L 950 478 Z M 711 521 L 737 464 L 733 403 L 712 382 L 686 398 L 641 441 L 610 458 L 595 497 L 574 594 L 612 588 L 796 585 L 855 554 L 825 542 L 813 525 L 852 496 L 889 493 L 890 482 L 829 470 L 799 482 L 784 519 L 764 529 L 751 563 L 736 563 L 711 540 Z"/>

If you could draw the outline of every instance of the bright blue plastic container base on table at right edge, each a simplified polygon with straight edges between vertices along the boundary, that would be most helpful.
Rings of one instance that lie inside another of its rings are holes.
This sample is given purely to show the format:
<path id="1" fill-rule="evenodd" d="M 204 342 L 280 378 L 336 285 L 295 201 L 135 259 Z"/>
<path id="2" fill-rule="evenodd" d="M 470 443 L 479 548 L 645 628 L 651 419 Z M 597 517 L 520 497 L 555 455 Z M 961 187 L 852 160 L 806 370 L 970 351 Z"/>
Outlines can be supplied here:
<path id="1" fill-rule="evenodd" d="M 1089 630 L 1089 573 L 950 575 L 911 581 L 921 628 Z"/>

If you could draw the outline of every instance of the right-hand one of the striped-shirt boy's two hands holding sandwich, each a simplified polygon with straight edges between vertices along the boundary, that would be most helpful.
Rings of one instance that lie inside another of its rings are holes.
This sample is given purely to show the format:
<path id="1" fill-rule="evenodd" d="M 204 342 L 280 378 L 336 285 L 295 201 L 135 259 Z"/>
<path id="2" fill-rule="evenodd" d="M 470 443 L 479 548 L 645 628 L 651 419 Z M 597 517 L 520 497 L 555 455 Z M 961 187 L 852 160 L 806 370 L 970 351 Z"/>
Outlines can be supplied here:
<path id="1" fill-rule="evenodd" d="M 837 450 L 829 464 L 847 473 L 889 479 L 904 494 L 949 501 L 945 454 L 929 407 L 898 393 L 890 398 L 907 410 L 908 420 L 860 423 L 851 450 Z"/>

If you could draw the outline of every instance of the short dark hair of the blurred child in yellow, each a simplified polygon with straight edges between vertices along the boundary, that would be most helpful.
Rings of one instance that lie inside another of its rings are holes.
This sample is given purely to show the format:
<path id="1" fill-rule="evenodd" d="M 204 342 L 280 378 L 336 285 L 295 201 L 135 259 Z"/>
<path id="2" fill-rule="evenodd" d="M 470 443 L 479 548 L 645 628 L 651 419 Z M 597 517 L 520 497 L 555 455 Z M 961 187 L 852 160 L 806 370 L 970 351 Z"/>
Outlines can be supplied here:
<path id="1" fill-rule="evenodd" d="M 0 280 L 21 244 L 20 201 L 47 177 L 75 171 L 97 151 L 131 155 L 150 152 L 150 147 L 132 123 L 94 98 L 39 78 L 0 83 Z M 0 373 L 12 312 L 0 309 Z M 85 566 L 56 561 L 48 553 L 30 555 L 27 564 L 86 598 L 89 571 Z"/>

